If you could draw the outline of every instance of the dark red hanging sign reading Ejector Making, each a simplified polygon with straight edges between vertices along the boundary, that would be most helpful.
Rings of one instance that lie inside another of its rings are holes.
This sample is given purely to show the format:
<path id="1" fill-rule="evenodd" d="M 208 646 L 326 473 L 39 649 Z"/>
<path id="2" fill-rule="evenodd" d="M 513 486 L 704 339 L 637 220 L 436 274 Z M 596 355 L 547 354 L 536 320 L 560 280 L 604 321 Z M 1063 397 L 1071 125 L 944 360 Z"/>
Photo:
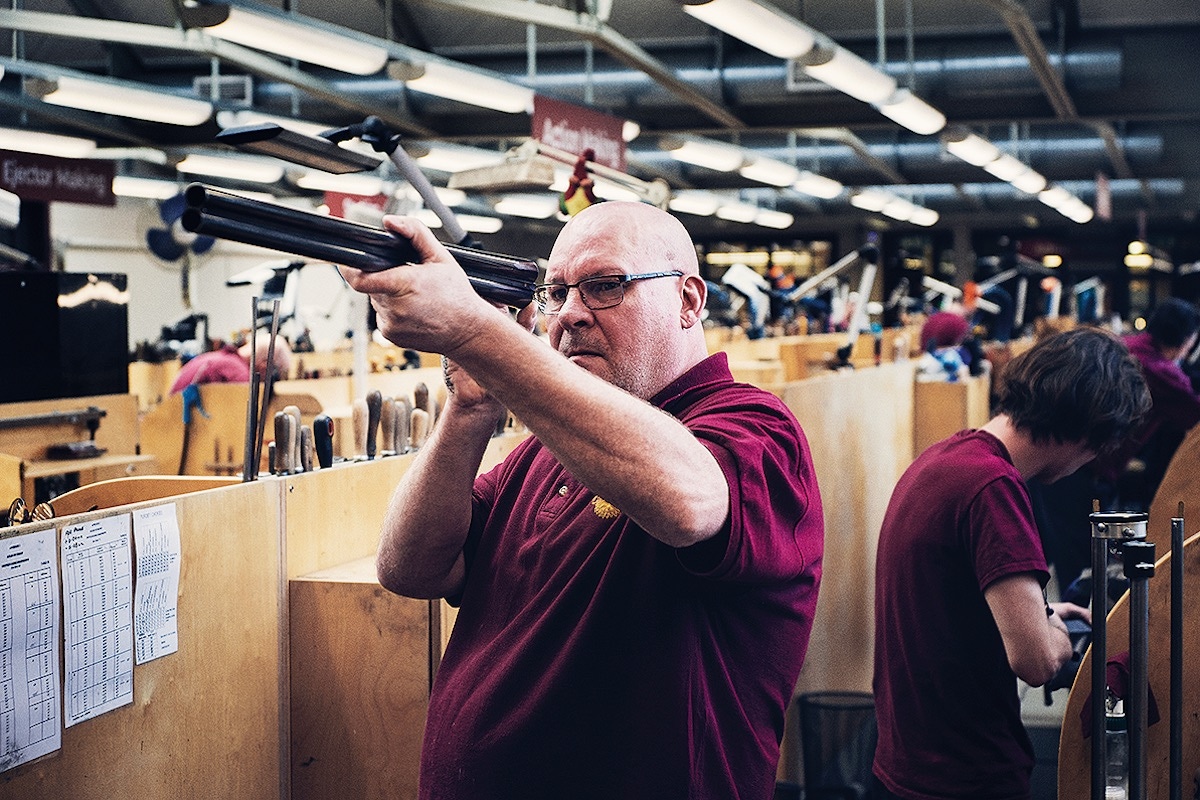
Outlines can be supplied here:
<path id="1" fill-rule="evenodd" d="M 0 150 L 0 188 L 24 200 L 115 205 L 112 161 Z"/>

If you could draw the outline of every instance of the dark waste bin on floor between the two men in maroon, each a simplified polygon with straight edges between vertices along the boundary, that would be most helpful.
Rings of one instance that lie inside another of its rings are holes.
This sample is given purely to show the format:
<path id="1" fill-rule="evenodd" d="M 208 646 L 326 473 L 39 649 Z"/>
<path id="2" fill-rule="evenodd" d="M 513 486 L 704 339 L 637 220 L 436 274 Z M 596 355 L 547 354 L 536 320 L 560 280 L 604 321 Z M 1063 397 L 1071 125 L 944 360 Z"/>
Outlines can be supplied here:
<path id="1" fill-rule="evenodd" d="M 805 800 L 870 796 L 875 698 L 870 692 L 806 692 L 796 698 Z"/>

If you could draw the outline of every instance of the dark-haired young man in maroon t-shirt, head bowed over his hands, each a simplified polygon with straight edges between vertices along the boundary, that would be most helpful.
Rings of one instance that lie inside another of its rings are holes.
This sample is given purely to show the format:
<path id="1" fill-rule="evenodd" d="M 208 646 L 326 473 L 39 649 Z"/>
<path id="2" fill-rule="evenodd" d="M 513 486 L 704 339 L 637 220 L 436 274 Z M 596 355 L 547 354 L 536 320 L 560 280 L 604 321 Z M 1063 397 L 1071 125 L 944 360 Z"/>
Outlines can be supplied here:
<path id="1" fill-rule="evenodd" d="M 1033 747 L 1016 679 L 1070 657 L 1026 481 L 1052 482 L 1117 445 L 1150 408 L 1124 345 L 1096 329 L 1051 336 L 1009 362 L 995 417 L 905 471 L 876 563 L 880 796 L 1027 798 Z"/>

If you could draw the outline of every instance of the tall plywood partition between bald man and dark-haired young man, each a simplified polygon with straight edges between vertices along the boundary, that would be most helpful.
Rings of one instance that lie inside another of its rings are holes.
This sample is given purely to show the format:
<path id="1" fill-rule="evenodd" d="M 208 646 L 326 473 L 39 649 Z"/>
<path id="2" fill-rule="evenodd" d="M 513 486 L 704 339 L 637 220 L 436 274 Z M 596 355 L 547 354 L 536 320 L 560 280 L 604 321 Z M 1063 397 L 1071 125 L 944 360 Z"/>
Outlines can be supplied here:
<path id="1" fill-rule="evenodd" d="M 912 462 L 912 362 L 787 384 L 824 506 L 821 596 L 797 692 L 871 688 L 875 549 L 892 489 Z"/>

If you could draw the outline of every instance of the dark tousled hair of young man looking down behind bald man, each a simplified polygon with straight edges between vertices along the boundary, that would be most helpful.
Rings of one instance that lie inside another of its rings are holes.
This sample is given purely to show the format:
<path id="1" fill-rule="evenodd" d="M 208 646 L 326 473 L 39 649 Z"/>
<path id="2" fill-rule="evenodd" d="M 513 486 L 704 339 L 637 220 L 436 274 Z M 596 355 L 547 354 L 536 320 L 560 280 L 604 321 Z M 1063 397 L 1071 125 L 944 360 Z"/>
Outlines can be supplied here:
<path id="1" fill-rule="evenodd" d="M 1033 441 L 1084 441 L 1100 453 L 1120 446 L 1145 420 L 1150 391 L 1120 338 L 1076 327 L 1008 362 L 996 410 Z"/>

